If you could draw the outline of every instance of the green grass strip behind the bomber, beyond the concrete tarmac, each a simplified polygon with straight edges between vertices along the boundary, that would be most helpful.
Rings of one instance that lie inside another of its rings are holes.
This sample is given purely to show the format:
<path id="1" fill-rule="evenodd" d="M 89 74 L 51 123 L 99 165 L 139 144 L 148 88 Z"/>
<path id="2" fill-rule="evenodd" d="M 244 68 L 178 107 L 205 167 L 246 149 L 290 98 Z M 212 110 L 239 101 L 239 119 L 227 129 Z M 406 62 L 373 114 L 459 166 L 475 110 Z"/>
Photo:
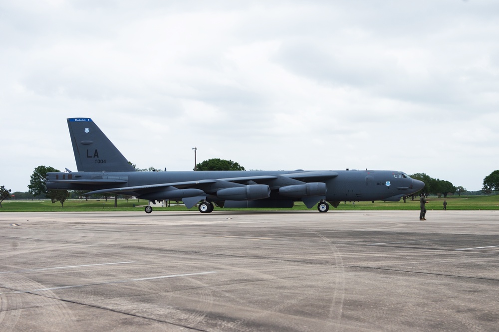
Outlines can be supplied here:
<path id="1" fill-rule="evenodd" d="M 429 203 L 426 204 L 427 210 L 441 210 L 443 208 L 444 198 L 430 197 Z M 499 195 L 494 196 L 452 196 L 447 198 L 448 210 L 499 210 Z M 114 207 L 114 199 L 109 199 L 107 202 L 104 199 L 96 200 L 84 199 L 67 200 L 64 202 L 64 207 L 61 207 L 59 202 L 51 203 L 50 200 L 4 200 L 0 212 L 57 212 L 57 211 L 144 211 L 144 205 L 147 205 L 147 200 L 129 199 L 128 202 L 124 199 L 118 199 L 118 207 Z M 187 211 L 184 205 L 172 205 L 169 207 L 161 207 L 161 204 L 153 205 L 155 211 Z M 215 207 L 215 209 L 220 209 Z M 316 207 L 312 209 L 316 210 Z M 191 210 L 197 210 L 193 207 Z M 259 208 L 259 209 L 224 209 L 224 210 L 291 210 L 289 208 Z M 301 202 L 296 202 L 292 210 L 307 210 Z M 418 200 L 407 200 L 404 203 L 400 202 L 346 202 L 341 203 L 334 210 L 419 210 Z"/>

